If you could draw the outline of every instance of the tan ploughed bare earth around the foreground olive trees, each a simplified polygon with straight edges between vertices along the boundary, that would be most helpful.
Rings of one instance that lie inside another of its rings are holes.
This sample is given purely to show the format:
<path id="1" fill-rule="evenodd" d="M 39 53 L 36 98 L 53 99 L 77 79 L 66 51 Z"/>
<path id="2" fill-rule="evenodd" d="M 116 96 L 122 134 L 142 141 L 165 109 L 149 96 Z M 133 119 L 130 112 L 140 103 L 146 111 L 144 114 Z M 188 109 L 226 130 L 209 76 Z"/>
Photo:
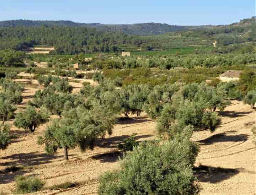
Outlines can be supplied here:
<path id="1" fill-rule="evenodd" d="M 36 81 L 32 83 L 24 91 L 23 103 L 18 105 L 18 110 L 24 109 L 34 92 L 42 88 Z M 76 85 L 76 91 L 82 87 L 77 86 L 81 83 L 71 84 Z M 223 124 L 213 134 L 201 131 L 194 132 L 192 137 L 201 147 L 196 166 L 206 166 L 206 170 L 197 170 L 195 173 L 202 187 L 200 195 L 256 194 L 256 150 L 251 140 L 250 126 L 245 126 L 245 123 L 255 121 L 255 112 L 249 105 L 232 101 L 219 114 Z M 27 168 L 9 174 L 0 172 L 0 191 L 12 194 L 16 175 L 36 175 L 46 181 L 46 186 L 67 181 L 84 183 L 71 189 L 47 190 L 35 194 L 96 194 L 98 176 L 118 168 L 118 158 L 122 156 L 116 150 L 118 142 L 133 133 L 138 133 L 139 140 L 154 139 L 155 125 L 155 121 L 145 114 L 135 120 L 119 122 L 114 126 L 113 135 L 98 142 L 93 151 L 80 153 L 76 149 L 70 150 L 69 162 L 63 161 L 62 150 L 54 156 L 47 156 L 44 148 L 36 144 L 37 136 L 44 131 L 46 125 L 34 133 L 12 126 L 11 133 L 17 135 L 17 139 L 6 150 L 0 151 L 0 170 L 12 165 Z"/>

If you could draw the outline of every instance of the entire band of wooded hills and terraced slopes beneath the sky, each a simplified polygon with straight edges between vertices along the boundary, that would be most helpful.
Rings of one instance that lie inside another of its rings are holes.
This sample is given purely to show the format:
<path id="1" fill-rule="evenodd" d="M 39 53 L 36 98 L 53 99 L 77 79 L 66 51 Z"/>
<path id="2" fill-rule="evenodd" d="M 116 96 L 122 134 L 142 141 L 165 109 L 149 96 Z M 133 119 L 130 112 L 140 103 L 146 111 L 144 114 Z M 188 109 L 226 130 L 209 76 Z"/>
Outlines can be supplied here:
<path id="1" fill-rule="evenodd" d="M 4 21 L 1 24 L 0 49 L 26 50 L 34 45 L 48 45 L 55 48 L 53 54 L 209 47 L 213 46 L 215 40 L 218 46 L 227 46 L 254 42 L 256 37 L 255 18 L 232 25 L 193 27 L 189 30 L 185 27 L 159 23 L 84 26 L 75 25 L 70 21 L 17 20 Z M 159 34 L 157 31 L 164 35 L 140 36 Z M 172 33 L 165 34 L 166 32 Z"/>

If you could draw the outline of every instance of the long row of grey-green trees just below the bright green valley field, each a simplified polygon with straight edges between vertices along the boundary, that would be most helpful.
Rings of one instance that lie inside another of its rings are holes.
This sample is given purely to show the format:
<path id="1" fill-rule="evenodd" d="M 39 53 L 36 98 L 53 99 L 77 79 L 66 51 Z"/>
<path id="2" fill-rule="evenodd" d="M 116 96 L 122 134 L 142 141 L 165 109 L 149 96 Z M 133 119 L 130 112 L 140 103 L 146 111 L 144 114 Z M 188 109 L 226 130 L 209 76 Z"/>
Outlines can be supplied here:
<path id="1" fill-rule="evenodd" d="M 172 69 L 175 67 L 193 68 L 214 67 L 214 66 L 232 66 L 255 64 L 256 55 L 254 52 L 247 54 L 197 54 L 197 55 L 180 55 L 180 56 L 162 56 L 146 57 L 143 59 L 127 58 L 121 60 L 112 59 L 94 59 L 91 67 L 94 69 L 134 69 L 138 67 L 154 68 L 162 70 Z"/>

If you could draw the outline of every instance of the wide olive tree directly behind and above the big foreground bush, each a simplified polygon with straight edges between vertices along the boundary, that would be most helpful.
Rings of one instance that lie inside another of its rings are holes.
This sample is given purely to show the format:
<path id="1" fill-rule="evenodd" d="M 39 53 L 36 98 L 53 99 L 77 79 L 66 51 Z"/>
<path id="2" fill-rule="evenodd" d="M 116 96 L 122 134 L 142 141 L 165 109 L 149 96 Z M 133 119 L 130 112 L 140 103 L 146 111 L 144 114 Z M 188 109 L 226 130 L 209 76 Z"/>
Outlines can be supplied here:
<path id="1" fill-rule="evenodd" d="M 174 97 L 172 103 L 165 104 L 157 120 L 160 136 L 166 138 L 176 133 L 177 127 L 194 126 L 194 130 L 209 129 L 213 132 L 220 125 L 217 113 L 208 110 L 204 102 L 192 102 Z"/>

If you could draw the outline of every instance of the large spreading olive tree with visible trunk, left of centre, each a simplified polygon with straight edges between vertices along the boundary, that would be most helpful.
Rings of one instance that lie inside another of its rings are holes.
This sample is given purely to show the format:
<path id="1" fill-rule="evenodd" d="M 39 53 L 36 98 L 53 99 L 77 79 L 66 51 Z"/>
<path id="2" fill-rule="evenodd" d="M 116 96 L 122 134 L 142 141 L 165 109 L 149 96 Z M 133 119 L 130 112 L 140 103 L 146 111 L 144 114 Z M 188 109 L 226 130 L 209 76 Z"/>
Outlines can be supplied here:
<path id="1" fill-rule="evenodd" d="M 65 160 L 68 160 L 69 149 L 93 149 L 97 137 L 104 137 L 106 132 L 112 134 L 114 117 L 99 103 L 91 110 L 84 107 L 67 109 L 63 116 L 48 126 L 44 135 L 38 138 L 38 144 L 45 144 L 47 153 L 63 148 Z"/>

